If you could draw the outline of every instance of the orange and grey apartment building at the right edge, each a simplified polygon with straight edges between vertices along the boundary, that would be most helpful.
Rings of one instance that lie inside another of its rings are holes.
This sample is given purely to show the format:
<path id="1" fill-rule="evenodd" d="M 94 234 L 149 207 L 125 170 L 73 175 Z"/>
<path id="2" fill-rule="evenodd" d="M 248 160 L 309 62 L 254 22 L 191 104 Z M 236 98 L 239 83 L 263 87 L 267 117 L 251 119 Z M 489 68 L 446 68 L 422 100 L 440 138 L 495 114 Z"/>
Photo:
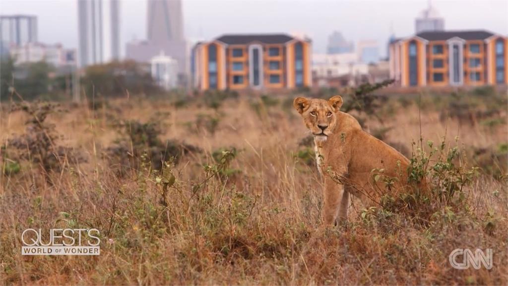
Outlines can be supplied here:
<path id="1" fill-rule="evenodd" d="M 401 87 L 506 84 L 508 37 L 487 31 L 423 32 L 390 43 Z"/>

